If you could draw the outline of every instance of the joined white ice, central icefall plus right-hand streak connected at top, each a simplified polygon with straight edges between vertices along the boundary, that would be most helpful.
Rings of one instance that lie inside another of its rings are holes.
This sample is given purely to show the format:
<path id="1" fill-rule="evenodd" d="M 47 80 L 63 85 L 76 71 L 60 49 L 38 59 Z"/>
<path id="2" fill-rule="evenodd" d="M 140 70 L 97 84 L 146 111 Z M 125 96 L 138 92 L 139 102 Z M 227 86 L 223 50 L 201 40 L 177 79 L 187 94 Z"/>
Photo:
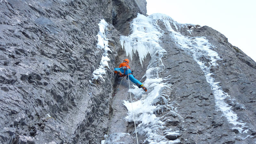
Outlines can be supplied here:
<path id="1" fill-rule="evenodd" d="M 161 117 L 157 117 L 155 115 L 157 111 L 167 108 L 170 112 L 179 116 L 173 107 L 175 102 L 170 103 L 169 96 L 163 91 L 164 89 L 170 89 L 170 85 L 163 83 L 163 80 L 168 79 L 168 77 L 159 77 L 164 68 L 161 58 L 166 52 L 159 45 L 159 38 L 163 33 L 163 30 L 161 30 L 157 25 L 157 22 L 159 21 L 164 23 L 167 30 L 171 32 L 170 35 L 177 42 L 180 48 L 191 54 L 203 70 L 206 81 L 210 84 L 213 91 L 218 110 L 223 113 L 230 124 L 241 125 L 241 127 L 244 128 L 245 124 L 242 121 L 238 121 L 236 113 L 224 101 L 226 97 L 230 96 L 228 93 L 222 91 L 222 88 L 218 85 L 220 82 L 215 82 L 214 78 L 211 77 L 213 74 L 210 72 L 210 68 L 217 66 L 217 61 L 221 60 L 218 53 L 212 50 L 214 49 L 214 46 L 210 44 L 205 37 L 188 37 L 181 35 L 177 31 L 180 28 L 187 27 L 186 24 L 180 24 L 172 20 L 169 16 L 153 14 L 146 17 L 138 14 L 137 18 L 133 19 L 131 23 L 131 35 L 121 36 L 120 44 L 125 50 L 126 55 L 130 56 L 131 60 L 132 55 L 138 52 L 141 64 L 147 54 L 150 54 L 151 56 L 151 60 L 145 74 L 146 80 L 144 82 L 144 85 L 148 87 L 148 95 L 143 96 L 144 92 L 136 87 L 129 90 L 135 97 L 140 98 L 140 100 L 132 102 L 132 106 L 135 115 L 135 122 L 138 124 L 137 131 L 139 134 L 147 136 L 147 139 L 144 142 L 148 141 L 150 144 L 170 144 L 179 141 L 179 139 L 172 141 L 165 138 L 165 135 L 170 134 L 171 132 L 166 132 L 164 135 L 159 135 L 159 133 L 157 133 L 159 129 L 164 128 L 164 122 L 160 120 Z M 175 27 L 176 31 L 172 29 L 171 24 Z M 192 31 L 189 31 L 190 34 L 191 32 Z M 208 64 L 200 60 L 202 56 L 209 60 Z M 165 102 L 165 105 L 156 105 L 160 99 Z M 133 121 L 131 103 L 124 101 L 124 105 L 128 109 L 128 116 L 126 116 L 126 119 L 131 122 Z M 238 128 L 239 132 L 242 132 L 242 128 Z M 179 133 L 177 132 L 177 134 Z"/>

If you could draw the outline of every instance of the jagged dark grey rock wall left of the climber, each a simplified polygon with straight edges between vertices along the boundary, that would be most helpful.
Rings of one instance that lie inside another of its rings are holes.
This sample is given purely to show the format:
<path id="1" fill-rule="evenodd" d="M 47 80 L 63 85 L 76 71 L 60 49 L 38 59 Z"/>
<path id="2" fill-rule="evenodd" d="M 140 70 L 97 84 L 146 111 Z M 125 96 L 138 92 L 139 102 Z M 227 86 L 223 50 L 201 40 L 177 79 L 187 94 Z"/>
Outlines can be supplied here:
<path id="1" fill-rule="evenodd" d="M 112 22 L 119 26 L 146 13 L 145 5 L 137 0 L 1 2 L 1 143 L 99 143 L 120 48 Z M 112 52 L 104 80 L 92 81 L 103 53 L 96 46 L 100 19 L 109 24 L 105 33 L 113 40 Z"/>

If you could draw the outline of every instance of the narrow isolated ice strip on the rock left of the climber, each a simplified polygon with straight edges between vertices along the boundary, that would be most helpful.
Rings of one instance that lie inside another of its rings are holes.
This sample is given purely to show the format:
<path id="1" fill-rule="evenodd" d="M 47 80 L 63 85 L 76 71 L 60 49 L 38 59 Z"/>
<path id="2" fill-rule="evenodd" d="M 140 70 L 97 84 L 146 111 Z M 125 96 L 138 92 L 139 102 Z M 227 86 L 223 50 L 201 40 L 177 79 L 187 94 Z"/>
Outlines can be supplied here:
<path id="1" fill-rule="evenodd" d="M 108 29 L 107 28 L 108 23 L 104 19 L 102 19 L 102 20 L 100 20 L 100 23 L 98 25 L 99 25 L 100 30 L 97 35 L 98 36 L 97 47 L 100 48 L 100 50 L 103 50 L 103 53 L 102 53 L 102 58 L 100 60 L 99 68 L 94 70 L 92 73 L 92 75 L 93 75 L 92 79 L 98 79 L 99 77 L 101 77 L 103 79 L 102 76 L 106 74 L 105 68 L 108 68 L 108 61 L 110 60 L 108 58 L 108 51 L 111 52 L 111 50 L 108 48 L 108 40 L 109 39 L 107 39 L 107 37 L 105 35 L 105 30 Z"/>

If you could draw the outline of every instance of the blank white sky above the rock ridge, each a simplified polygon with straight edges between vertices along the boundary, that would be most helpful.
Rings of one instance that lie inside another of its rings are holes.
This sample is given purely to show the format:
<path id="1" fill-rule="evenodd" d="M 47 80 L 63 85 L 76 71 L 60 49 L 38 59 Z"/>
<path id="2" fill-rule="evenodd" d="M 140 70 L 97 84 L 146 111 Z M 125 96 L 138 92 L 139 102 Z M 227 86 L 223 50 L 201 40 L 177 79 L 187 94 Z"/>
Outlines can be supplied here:
<path id="1" fill-rule="evenodd" d="M 146 0 L 147 14 L 209 26 L 256 61 L 256 0 Z"/>

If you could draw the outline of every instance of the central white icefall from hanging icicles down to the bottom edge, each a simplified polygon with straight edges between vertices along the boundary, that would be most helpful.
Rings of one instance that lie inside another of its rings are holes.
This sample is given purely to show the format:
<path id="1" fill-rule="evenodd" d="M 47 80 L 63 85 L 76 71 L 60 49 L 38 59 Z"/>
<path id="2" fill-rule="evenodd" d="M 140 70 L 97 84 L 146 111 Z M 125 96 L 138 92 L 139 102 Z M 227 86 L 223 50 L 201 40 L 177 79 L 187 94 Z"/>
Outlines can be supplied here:
<path id="1" fill-rule="evenodd" d="M 162 122 L 160 118 L 163 117 L 157 117 L 156 113 L 162 113 L 165 110 L 168 113 L 175 112 L 172 106 L 174 103 L 169 103 L 169 96 L 163 92 L 165 89 L 171 89 L 171 85 L 163 82 L 168 80 L 168 77 L 160 77 L 160 73 L 164 69 L 162 57 L 166 51 L 159 45 L 159 37 L 162 36 L 162 33 L 157 26 L 157 20 L 153 16 L 146 17 L 138 14 L 137 18 L 133 19 L 131 23 L 131 29 L 132 34 L 130 36 L 120 37 L 120 44 L 125 50 L 126 55 L 129 55 L 132 60 L 132 54 L 138 52 L 141 64 L 147 54 L 151 56 L 146 74 L 144 75 L 146 77 L 144 85 L 148 88 L 148 95 L 145 95 L 143 90 L 136 87 L 129 90 L 136 98 L 140 98 L 140 100 L 132 103 L 135 122 L 138 124 L 137 132 L 140 135 L 146 135 L 143 143 L 172 144 L 179 142 L 180 140 L 178 139 L 168 140 L 165 138 L 165 135 L 158 133 L 158 130 L 165 128 L 165 122 Z M 164 102 L 164 104 L 156 105 L 157 102 Z M 124 101 L 124 105 L 128 109 L 128 116 L 125 118 L 132 122 L 131 103 Z"/>

